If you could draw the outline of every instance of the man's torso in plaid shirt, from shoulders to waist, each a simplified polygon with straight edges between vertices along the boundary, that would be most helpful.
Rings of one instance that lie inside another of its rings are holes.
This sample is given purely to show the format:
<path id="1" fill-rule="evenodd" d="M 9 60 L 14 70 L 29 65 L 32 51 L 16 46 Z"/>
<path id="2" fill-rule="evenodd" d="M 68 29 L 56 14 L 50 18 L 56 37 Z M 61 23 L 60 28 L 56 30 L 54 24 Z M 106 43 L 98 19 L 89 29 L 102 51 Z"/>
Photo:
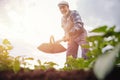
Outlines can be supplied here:
<path id="1" fill-rule="evenodd" d="M 65 35 L 82 37 L 83 33 L 86 34 L 81 17 L 76 10 L 71 10 L 67 16 L 63 16 L 61 22 Z"/>

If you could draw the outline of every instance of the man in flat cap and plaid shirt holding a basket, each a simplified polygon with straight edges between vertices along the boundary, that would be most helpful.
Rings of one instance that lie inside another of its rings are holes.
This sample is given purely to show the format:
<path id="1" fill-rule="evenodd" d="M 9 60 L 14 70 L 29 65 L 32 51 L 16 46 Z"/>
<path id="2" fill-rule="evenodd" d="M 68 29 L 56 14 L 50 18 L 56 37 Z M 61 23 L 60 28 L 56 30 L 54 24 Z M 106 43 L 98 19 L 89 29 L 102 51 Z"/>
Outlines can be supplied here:
<path id="1" fill-rule="evenodd" d="M 61 19 L 61 25 L 65 32 L 63 40 L 68 41 L 66 57 L 73 56 L 73 58 L 77 58 L 78 47 L 80 45 L 82 49 L 82 57 L 86 59 L 88 49 L 83 48 L 82 45 L 87 44 L 87 32 L 83 27 L 84 24 L 79 13 L 76 10 L 70 10 L 69 4 L 66 1 L 61 1 L 58 4 L 58 7 L 63 15 Z"/>

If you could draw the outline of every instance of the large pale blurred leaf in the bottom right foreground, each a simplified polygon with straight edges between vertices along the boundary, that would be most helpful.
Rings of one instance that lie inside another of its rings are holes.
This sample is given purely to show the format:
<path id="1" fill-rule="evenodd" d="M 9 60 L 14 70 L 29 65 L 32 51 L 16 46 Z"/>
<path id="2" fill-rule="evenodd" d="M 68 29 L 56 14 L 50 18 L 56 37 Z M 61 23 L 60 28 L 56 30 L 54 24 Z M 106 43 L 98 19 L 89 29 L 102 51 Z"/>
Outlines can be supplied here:
<path id="1" fill-rule="evenodd" d="M 120 53 L 120 44 L 113 51 L 101 55 L 95 62 L 94 73 L 98 79 L 104 80 L 105 76 L 113 69 L 118 54 Z M 101 64 L 102 63 L 102 64 Z"/>

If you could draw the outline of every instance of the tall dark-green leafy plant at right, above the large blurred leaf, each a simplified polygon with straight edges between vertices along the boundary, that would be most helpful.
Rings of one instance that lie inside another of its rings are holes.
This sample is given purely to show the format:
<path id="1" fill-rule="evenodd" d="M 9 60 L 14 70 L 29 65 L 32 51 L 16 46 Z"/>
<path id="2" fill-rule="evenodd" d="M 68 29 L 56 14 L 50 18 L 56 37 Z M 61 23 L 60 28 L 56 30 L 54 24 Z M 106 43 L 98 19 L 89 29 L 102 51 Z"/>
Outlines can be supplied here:
<path id="1" fill-rule="evenodd" d="M 90 43 L 90 51 L 87 54 L 89 58 L 97 58 L 99 55 L 105 52 L 102 51 L 103 48 L 112 46 L 114 49 L 114 47 L 120 42 L 120 32 L 116 32 L 115 27 L 116 26 L 101 26 L 93 29 L 90 32 L 95 33 L 96 35 L 89 36 L 87 38 L 88 42 Z M 112 49 L 107 49 L 106 51 L 109 50 Z"/>

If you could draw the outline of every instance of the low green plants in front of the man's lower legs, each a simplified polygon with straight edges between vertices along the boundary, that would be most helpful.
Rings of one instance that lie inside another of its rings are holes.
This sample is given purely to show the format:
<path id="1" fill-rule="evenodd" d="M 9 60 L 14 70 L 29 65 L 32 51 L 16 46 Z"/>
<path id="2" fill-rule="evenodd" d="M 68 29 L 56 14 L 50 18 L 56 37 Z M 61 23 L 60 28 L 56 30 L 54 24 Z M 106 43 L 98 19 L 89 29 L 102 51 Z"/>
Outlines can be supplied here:
<path id="1" fill-rule="evenodd" d="M 91 59 L 85 60 L 83 58 L 73 58 L 69 56 L 65 63 L 65 66 L 61 70 L 79 70 L 79 69 L 89 69 L 91 68 Z"/>

